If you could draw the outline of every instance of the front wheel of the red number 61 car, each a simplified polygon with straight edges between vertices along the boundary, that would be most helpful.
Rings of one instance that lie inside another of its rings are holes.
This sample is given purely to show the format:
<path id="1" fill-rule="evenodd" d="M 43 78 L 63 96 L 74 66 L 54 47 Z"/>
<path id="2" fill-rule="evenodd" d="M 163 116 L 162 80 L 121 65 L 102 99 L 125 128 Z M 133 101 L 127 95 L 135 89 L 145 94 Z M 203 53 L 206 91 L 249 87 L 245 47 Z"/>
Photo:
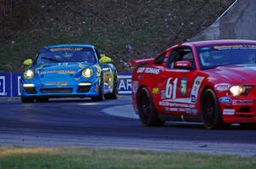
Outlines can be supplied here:
<path id="1" fill-rule="evenodd" d="M 207 129 L 218 129 L 224 126 L 218 98 L 211 88 L 202 93 L 201 120 Z"/>

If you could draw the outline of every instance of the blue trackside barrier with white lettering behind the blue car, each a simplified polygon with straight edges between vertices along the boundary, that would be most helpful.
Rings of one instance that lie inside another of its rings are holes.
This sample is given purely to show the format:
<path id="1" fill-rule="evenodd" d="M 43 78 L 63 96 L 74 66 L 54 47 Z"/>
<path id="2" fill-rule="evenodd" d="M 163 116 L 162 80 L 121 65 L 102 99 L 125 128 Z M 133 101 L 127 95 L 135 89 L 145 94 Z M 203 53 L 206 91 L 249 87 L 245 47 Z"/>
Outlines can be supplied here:
<path id="1" fill-rule="evenodd" d="M 20 96 L 21 73 L 0 73 L 0 98 Z M 119 73 L 119 94 L 131 94 L 131 73 Z"/>

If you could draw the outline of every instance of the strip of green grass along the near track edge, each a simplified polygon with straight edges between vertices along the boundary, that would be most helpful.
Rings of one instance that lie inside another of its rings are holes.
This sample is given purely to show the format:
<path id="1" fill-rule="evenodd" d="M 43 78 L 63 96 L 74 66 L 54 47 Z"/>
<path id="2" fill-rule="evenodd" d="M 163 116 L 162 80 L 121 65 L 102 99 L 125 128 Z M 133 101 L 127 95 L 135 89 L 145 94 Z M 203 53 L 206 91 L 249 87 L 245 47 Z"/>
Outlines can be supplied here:
<path id="1" fill-rule="evenodd" d="M 85 148 L 0 148 L 0 168 L 255 168 L 256 156 Z"/>

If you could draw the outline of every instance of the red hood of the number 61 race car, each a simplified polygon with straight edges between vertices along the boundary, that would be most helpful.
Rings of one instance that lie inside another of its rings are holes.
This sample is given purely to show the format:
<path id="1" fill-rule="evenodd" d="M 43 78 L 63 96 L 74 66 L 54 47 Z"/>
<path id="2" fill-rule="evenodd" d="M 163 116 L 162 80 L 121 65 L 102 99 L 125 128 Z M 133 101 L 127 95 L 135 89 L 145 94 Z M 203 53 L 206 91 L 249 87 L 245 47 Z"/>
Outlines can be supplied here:
<path id="1" fill-rule="evenodd" d="M 206 70 L 209 76 L 215 77 L 219 82 L 250 85 L 256 84 L 256 65 L 227 65 Z"/>

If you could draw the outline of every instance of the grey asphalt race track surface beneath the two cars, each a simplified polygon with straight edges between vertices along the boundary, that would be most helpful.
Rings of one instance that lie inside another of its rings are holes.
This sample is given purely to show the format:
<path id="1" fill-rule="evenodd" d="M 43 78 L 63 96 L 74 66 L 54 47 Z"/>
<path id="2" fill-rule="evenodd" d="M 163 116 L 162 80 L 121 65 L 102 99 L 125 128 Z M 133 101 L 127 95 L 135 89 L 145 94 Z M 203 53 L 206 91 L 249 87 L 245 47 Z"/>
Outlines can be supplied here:
<path id="1" fill-rule="evenodd" d="M 115 113 L 121 116 L 108 114 L 117 110 Z M 55 99 L 33 104 L 1 100 L 0 146 L 85 146 L 256 155 L 253 129 L 233 126 L 206 130 L 201 124 L 177 122 L 168 122 L 165 127 L 143 127 L 139 120 L 122 114 L 134 115 L 130 97 L 103 102 Z"/>

